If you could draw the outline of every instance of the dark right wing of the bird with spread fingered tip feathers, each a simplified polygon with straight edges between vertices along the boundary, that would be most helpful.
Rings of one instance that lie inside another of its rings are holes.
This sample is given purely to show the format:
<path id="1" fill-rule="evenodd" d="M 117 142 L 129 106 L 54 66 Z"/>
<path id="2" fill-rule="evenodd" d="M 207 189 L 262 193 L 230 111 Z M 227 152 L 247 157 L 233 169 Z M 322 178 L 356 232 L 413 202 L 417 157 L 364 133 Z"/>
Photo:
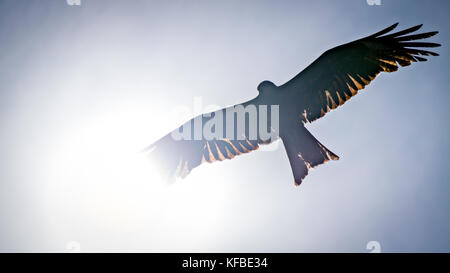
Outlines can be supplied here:
<path id="1" fill-rule="evenodd" d="M 398 23 L 368 37 L 332 48 L 310 66 L 280 86 L 293 93 L 303 106 L 303 121 L 312 122 L 344 104 L 368 85 L 380 72 L 397 71 L 398 66 L 426 61 L 421 56 L 438 56 L 421 48 L 440 44 L 412 42 L 429 38 L 437 31 L 413 34 L 418 25 L 392 34 Z M 387 35 L 385 35 L 387 34 Z"/>

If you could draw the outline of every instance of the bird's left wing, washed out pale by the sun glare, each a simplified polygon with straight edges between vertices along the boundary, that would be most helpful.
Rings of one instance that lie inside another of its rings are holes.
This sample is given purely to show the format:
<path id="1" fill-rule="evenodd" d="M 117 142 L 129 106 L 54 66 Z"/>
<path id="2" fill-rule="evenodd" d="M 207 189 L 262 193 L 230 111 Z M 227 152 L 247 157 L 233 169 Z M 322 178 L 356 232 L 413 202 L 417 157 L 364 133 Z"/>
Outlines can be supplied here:
<path id="1" fill-rule="evenodd" d="M 222 109 L 215 113 L 221 111 L 222 117 L 226 117 L 225 110 L 226 109 Z M 204 126 L 209 119 L 214 117 L 214 115 L 215 114 L 213 113 L 211 116 L 197 116 L 147 148 L 150 152 L 150 158 L 153 159 L 154 164 L 158 166 L 158 169 L 165 178 L 168 180 L 173 180 L 173 178 L 176 177 L 184 178 L 192 169 L 203 162 L 212 163 L 215 161 L 232 159 L 237 155 L 258 149 L 260 144 L 267 144 L 270 142 L 261 140 L 259 137 L 256 140 L 249 139 L 249 137 L 247 137 L 248 127 L 245 128 L 245 133 L 240 138 L 236 136 L 233 139 L 221 137 L 207 140 L 202 136 L 201 139 L 195 140 L 193 133 L 196 124 L 195 120 L 201 119 L 201 124 Z M 224 122 L 226 123 L 226 119 L 224 119 Z M 174 138 L 173 132 L 182 132 L 184 126 L 191 126 L 191 138 Z M 236 127 L 237 125 L 235 124 L 235 132 L 237 131 Z"/>

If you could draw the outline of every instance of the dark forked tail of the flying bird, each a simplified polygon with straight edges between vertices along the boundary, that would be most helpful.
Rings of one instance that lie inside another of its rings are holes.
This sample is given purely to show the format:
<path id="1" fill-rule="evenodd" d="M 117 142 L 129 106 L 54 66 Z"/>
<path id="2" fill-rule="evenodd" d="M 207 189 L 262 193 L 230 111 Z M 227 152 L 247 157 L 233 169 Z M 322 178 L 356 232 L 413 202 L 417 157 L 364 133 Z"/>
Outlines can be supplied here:
<path id="1" fill-rule="evenodd" d="M 302 183 L 311 168 L 339 157 L 322 145 L 305 127 L 299 126 L 286 136 L 282 136 L 295 185 Z"/>

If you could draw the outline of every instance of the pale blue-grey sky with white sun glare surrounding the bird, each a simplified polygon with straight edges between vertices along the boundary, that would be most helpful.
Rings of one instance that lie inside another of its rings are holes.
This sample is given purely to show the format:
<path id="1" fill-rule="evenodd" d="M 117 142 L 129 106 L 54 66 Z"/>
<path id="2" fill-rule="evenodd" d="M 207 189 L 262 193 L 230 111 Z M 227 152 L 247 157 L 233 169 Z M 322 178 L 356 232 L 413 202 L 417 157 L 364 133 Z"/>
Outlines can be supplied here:
<path id="1" fill-rule="evenodd" d="M 1 252 L 450 251 L 448 1 L 0 1 Z M 399 22 L 439 57 L 307 125 L 339 161 L 294 187 L 279 142 L 166 185 L 140 150 Z"/>

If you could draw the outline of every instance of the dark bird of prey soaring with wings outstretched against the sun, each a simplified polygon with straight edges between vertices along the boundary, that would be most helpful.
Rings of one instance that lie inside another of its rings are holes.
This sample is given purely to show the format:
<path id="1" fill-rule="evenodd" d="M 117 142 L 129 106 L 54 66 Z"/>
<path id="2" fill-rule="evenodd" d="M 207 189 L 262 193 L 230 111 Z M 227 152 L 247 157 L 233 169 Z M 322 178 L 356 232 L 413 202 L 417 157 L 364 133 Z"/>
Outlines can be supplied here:
<path id="1" fill-rule="evenodd" d="M 339 159 L 305 128 L 306 123 L 343 105 L 380 72 L 438 56 L 423 48 L 440 44 L 416 41 L 437 31 L 413 34 L 422 26 L 418 25 L 391 33 L 397 25 L 327 50 L 280 86 L 261 82 L 258 96 L 250 101 L 189 120 L 150 145 L 151 158 L 172 180 L 184 178 L 203 162 L 232 159 L 281 138 L 295 185 L 300 185 L 311 168 Z"/>

